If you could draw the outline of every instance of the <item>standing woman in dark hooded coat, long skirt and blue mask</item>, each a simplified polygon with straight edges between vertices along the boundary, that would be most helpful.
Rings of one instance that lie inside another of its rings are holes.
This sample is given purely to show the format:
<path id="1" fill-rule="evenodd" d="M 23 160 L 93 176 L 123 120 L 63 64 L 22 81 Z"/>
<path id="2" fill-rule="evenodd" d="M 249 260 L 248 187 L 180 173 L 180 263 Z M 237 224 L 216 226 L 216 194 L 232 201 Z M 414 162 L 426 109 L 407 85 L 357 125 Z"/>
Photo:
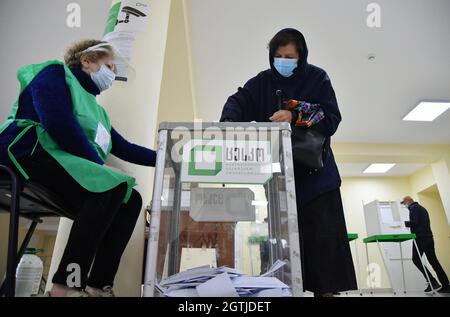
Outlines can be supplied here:
<path id="1" fill-rule="evenodd" d="M 289 122 L 326 137 L 324 167 L 294 163 L 304 289 L 315 296 L 357 289 L 342 207 L 341 179 L 330 138 L 341 122 L 327 73 L 308 64 L 308 48 L 295 29 L 278 32 L 269 43 L 270 69 L 230 96 L 221 121 Z M 289 110 L 279 110 L 277 91 Z"/>

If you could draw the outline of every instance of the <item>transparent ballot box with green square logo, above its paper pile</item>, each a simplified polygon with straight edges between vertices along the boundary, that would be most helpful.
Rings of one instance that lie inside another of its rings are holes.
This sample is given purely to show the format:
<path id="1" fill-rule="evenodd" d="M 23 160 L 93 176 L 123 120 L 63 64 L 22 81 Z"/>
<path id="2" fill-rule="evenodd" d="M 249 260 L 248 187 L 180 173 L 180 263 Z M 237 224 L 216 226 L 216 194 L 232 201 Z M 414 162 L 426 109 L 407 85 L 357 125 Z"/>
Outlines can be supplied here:
<path id="1" fill-rule="evenodd" d="M 150 219 L 144 296 L 190 269 L 280 260 L 271 276 L 303 295 L 288 123 L 162 123 Z"/>

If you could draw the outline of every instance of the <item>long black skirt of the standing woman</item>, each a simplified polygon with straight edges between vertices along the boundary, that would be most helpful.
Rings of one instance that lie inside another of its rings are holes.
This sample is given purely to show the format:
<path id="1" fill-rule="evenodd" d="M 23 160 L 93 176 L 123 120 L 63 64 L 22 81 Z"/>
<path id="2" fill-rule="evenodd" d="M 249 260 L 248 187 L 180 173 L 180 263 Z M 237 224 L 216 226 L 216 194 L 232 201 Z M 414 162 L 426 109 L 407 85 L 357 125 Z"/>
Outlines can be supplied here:
<path id="1" fill-rule="evenodd" d="M 340 190 L 299 209 L 304 289 L 316 294 L 357 289 Z"/>

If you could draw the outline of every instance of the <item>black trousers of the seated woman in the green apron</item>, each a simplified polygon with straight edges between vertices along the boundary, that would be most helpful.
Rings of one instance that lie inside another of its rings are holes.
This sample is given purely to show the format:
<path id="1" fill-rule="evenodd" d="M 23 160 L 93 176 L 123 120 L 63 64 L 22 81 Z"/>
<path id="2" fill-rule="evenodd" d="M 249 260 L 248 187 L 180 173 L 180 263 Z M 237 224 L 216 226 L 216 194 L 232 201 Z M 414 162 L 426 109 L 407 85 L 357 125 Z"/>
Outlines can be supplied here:
<path id="1" fill-rule="evenodd" d="M 133 190 L 124 204 L 125 183 L 104 193 L 91 193 L 45 151 L 20 163 L 31 180 L 58 194 L 73 211 L 72 229 L 52 282 L 80 288 L 113 286 L 142 209 L 141 195 Z M 73 285 L 77 281 L 80 285 Z"/>

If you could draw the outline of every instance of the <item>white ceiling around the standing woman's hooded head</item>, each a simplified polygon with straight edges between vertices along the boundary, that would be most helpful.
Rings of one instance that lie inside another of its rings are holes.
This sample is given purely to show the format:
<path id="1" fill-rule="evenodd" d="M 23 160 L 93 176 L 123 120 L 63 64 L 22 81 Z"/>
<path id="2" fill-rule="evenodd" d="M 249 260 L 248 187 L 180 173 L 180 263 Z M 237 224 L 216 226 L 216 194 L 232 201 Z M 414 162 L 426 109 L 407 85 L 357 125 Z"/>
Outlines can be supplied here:
<path id="1" fill-rule="evenodd" d="M 336 90 L 335 141 L 450 144 L 450 111 L 401 121 L 420 100 L 450 100 L 450 1 L 377 0 L 381 29 L 366 25 L 370 2 L 188 0 L 197 116 L 217 120 L 227 97 L 268 68 L 270 38 L 295 27 Z"/>

